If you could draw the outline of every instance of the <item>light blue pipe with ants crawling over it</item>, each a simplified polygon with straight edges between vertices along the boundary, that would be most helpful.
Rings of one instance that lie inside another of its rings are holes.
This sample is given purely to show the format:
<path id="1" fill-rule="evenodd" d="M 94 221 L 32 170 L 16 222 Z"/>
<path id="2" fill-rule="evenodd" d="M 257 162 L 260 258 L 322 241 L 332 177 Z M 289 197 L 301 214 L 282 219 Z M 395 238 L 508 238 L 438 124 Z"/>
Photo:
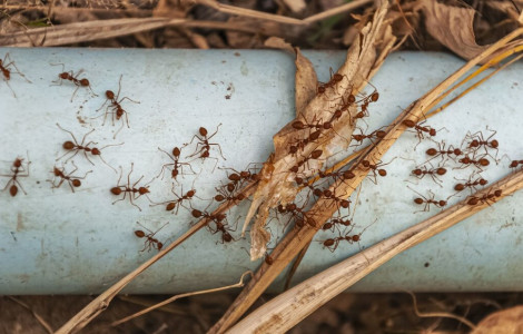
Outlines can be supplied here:
<path id="1" fill-rule="evenodd" d="M 17 68 L 32 84 L 13 73 L 9 81 L 0 81 L 0 174 L 10 174 L 13 159 L 29 156 L 30 173 L 19 181 L 22 190 L 11 197 L 8 190 L 0 193 L 0 294 L 87 294 L 100 293 L 132 271 L 152 252 L 144 248 L 144 239 L 134 232 L 140 222 L 156 230 L 169 222 L 155 237 L 165 244 L 181 235 L 189 226 L 190 213 L 180 208 L 177 216 L 164 206 L 149 206 L 147 198 L 138 198 L 130 205 L 109 189 L 117 186 L 118 174 L 99 157 L 91 157 L 91 166 L 81 154 L 73 159 L 77 175 L 92 170 L 72 194 L 67 184 L 51 189 L 52 168 L 70 140 L 65 129 L 81 140 L 91 128 L 88 140 L 96 147 L 109 144 L 102 157 L 116 169 L 122 167 L 124 178 L 134 163 L 131 181 L 144 175 L 150 183 L 150 198 L 164 202 L 172 198 L 169 174 L 155 178 L 169 158 L 158 147 L 170 151 L 181 147 L 197 134 L 200 126 L 214 132 L 223 124 L 211 143 L 219 143 L 227 160 L 219 159 L 218 167 L 240 170 L 249 163 L 264 161 L 273 149 L 272 136 L 294 117 L 293 59 L 278 51 L 198 51 L 198 50 L 93 50 L 93 49 L 7 49 Z M 319 79 L 328 80 L 328 68 L 337 68 L 344 60 L 343 52 L 306 52 L 315 63 Z M 75 86 L 65 81 L 52 86 L 58 73 L 80 69 L 79 78 L 88 78 L 97 97 L 80 87 L 70 101 Z M 388 57 L 372 84 L 379 91 L 379 101 L 371 105 L 366 119 L 368 130 L 391 122 L 413 100 L 428 91 L 463 65 L 461 59 L 442 53 L 399 52 Z M 430 126 L 440 129 L 437 140 L 460 145 L 467 131 L 482 130 L 485 126 L 497 130 L 500 141 L 497 158 L 505 154 L 523 159 L 523 141 L 520 140 L 523 114 L 523 67 L 513 65 L 444 112 L 430 119 Z M 122 101 L 128 111 L 129 127 L 111 126 L 109 118 L 102 126 L 105 91 L 118 90 L 121 76 L 120 99 L 129 97 L 139 104 Z M 371 92 L 368 90 L 367 92 Z M 16 94 L 17 97 L 13 95 Z M 362 124 L 365 130 L 365 126 Z M 441 128 L 445 129 L 441 129 Z M 417 144 L 415 134 L 406 132 L 383 158 L 392 160 L 385 168 L 387 176 L 377 186 L 364 181 L 353 217 L 362 234 L 359 244 L 344 244 L 330 253 L 322 242 L 336 235 L 319 233 L 310 246 L 294 282 L 299 282 L 329 265 L 354 254 L 358 247 L 373 245 L 415 223 L 431 216 L 416 213 L 415 193 L 426 195 L 432 189 L 436 197 L 452 195 L 456 178 L 465 178 L 471 169 L 453 170 L 442 177 L 440 187 L 425 177 L 416 180 L 409 173 L 426 160 L 425 150 L 435 144 L 424 140 Z M 91 146 L 92 147 L 92 146 Z M 193 149 L 182 150 L 185 156 Z M 217 157 L 216 147 L 211 156 Z M 393 160 L 393 158 L 398 157 Z M 66 157 L 67 158 L 67 157 Z M 63 161 L 63 159 L 62 159 Z M 437 165 L 437 160 L 433 160 Z M 197 175 L 179 176 L 184 191 L 195 187 L 201 198 L 211 198 L 214 187 L 225 180 L 225 171 L 213 170 L 215 160 L 195 161 Z M 510 173 L 509 158 L 493 164 L 482 176 L 491 183 Z M 450 166 L 450 165 L 448 165 Z M 71 170 L 67 164 L 66 169 Z M 8 177 L 0 177 L 4 187 Z M 408 184 L 415 181 L 417 185 Z M 522 194 L 483 210 L 457 226 L 437 235 L 404 254 L 358 283 L 353 291 L 514 291 L 522 289 L 523 239 Z M 463 197 L 462 197 L 463 198 Z M 458 200 L 453 197 L 450 203 Z M 356 198 L 353 197 L 353 202 Z M 204 209 L 207 202 L 195 200 L 195 208 Z M 234 224 L 245 217 L 249 203 L 244 202 L 229 214 Z M 210 208 L 209 208 L 210 209 Z M 375 222 L 375 223 L 374 223 Z M 282 225 L 272 223 L 277 238 Z M 282 224 L 285 223 L 282 222 Z M 373 224 L 374 223 L 374 224 Z M 142 228 L 141 228 L 142 229 Z M 239 232 L 238 227 L 238 232 Z M 233 233 L 239 238 L 239 233 Z M 189 240 L 141 274 L 126 293 L 176 293 L 204 289 L 237 282 L 241 273 L 255 269 L 259 262 L 250 263 L 246 239 L 220 244 L 219 234 L 200 230 Z M 156 252 L 156 250 L 154 250 Z M 278 289 L 282 279 L 273 286 Z"/>

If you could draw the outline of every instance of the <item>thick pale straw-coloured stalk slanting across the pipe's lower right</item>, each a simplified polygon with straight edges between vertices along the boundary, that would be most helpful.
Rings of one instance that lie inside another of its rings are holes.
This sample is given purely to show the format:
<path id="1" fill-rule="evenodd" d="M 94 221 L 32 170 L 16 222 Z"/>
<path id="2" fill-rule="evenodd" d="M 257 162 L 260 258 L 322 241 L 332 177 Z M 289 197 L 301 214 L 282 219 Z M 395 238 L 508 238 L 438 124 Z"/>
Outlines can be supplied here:
<path id="1" fill-rule="evenodd" d="M 499 202 L 521 188 L 523 188 L 523 169 L 472 196 L 482 198 L 482 196 L 494 194 L 495 190 L 501 189 L 502 195 L 492 199 Z M 397 254 L 412 248 L 491 205 L 487 200 L 474 206 L 467 205 L 470 198 L 467 197 L 446 210 L 364 249 L 296 285 L 250 313 L 227 333 L 284 333 L 290 330 L 315 310 L 353 286 Z"/>

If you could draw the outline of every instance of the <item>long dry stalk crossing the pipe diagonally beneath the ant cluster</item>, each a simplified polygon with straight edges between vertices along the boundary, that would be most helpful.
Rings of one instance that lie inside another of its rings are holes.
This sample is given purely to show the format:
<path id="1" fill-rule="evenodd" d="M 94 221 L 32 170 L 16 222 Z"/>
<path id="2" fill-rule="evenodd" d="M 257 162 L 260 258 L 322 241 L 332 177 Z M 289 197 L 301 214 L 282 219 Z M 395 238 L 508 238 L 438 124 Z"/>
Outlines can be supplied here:
<path id="1" fill-rule="evenodd" d="M 430 110 L 440 96 L 454 85 L 461 77 L 470 71 L 481 61 L 486 60 L 491 55 L 502 50 L 511 40 L 521 36 L 523 28 L 516 29 L 506 37 L 502 38 L 491 48 L 476 56 L 461 69 L 451 75 L 437 87 L 425 94 L 422 98 L 414 101 L 405 109 L 386 129 L 386 136 L 363 151 L 359 158 L 354 163 L 352 170 L 355 177 L 349 180 L 337 181 L 330 186 L 329 190 L 338 197 L 348 198 L 354 189 L 356 189 L 362 180 L 367 176 L 369 169 L 362 166 L 362 161 L 368 160 L 371 164 L 377 164 L 381 157 L 391 148 L 396 139 L 405 131 L 406 126 L 403 121 L 412 119 L 417 121 L 424 115 L 425 110 Z M 307 213 L 307 217 L 316 222 L 316 226 L 306 224 L 300 229 L 290 230 L 286 237 L 278 244 L 272 253 L 274 259 L 273 265 L 263 264 L 255 274 L 253 281 L 244 288 L 236 301 L 230 305 L 225 315 L 210 328 L 209 333 L 224 333 L 228 327 L 236 323 L 239 317 L 254 304 L 262 293 L 270 285 L 270 283 L 279 275 L 279 273 L 288 265 L 288 263 L 313 239 L 316 232 L 320 228 L 335 212 L 337 207 L 333 200 L 320 198 Z"/>

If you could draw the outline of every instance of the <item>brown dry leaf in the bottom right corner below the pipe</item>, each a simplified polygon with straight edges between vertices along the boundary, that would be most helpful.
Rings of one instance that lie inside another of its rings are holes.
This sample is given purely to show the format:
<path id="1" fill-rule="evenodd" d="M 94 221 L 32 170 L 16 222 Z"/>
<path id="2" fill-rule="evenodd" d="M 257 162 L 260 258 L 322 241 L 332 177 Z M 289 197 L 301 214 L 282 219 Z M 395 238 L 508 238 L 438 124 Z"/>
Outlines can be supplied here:
<path id="1" fill-rule="evenodd" d="M 494 312 L 477 324 L 471 334 L 523 333 L 523 305 Z"/>

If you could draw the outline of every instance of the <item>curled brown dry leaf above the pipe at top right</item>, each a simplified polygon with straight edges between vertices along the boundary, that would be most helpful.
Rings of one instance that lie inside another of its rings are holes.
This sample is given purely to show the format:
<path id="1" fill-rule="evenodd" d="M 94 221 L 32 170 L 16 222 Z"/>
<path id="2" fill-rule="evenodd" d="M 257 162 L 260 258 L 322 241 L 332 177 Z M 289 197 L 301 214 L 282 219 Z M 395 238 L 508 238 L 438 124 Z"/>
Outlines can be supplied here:
<path id="1" fill-rule="evenodd" d="M 451 7 L 432 0 L 423 0 L 421 6 L 428 33 L 462 58 L 472 59 L 490 47 L 476 43 L 473 9 Z"/>

